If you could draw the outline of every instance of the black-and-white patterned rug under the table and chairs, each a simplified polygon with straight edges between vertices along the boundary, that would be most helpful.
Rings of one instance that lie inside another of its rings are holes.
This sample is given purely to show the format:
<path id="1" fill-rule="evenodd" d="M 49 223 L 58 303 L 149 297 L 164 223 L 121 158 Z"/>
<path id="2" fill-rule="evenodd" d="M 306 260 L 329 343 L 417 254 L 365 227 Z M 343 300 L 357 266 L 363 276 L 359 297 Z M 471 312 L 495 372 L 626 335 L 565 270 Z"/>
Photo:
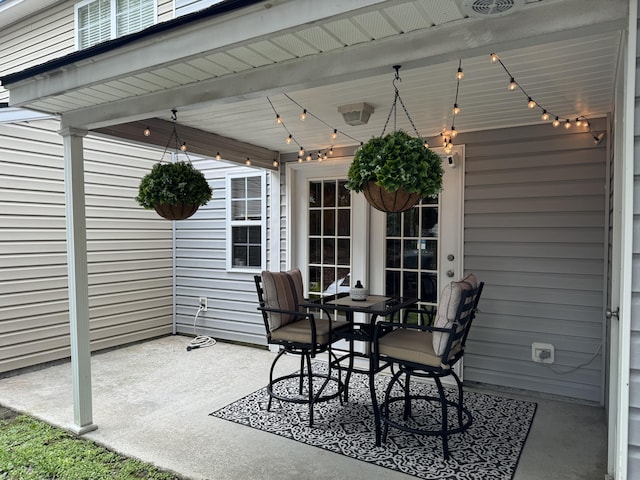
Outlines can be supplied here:
<path id="1" fill-rule="evenodd" d="M 388 381 L 388 376 L 377 375 L 378 398 Z M 432 390 L 437 395 L 435 388 L 428 384 L 412 382 L 412 388 L 414 384 L 416 389 Z M 297 381 L 291 381 L 282 388 L 296 395 Z M 414 435 L 390 428 L 386 442 L 376 447 L 369 384 L 362 374 L 351 377 L 349 402 L 341 405 L 336 398 L 314 406 L 314 426 L 311 428 L 306 405 L 274 399 L 268 412 L 266 388 L 210 415 L 418 478 L 513 479 L 536 404 L 470 391 L 465 391 L 464 398 L 473 423 L 465 433 L 449 437 L 449 461 L 443 459 L 440 437 Z M 421 419 L 421 422 L 439 423 L 440 420 L 433 418 L 432 413 L 437 416 L 438 409 L 415 405 L 412 411 L 413 417 Z M 456 419 L 452 416 L 449 421 L 453 425 Z"/>

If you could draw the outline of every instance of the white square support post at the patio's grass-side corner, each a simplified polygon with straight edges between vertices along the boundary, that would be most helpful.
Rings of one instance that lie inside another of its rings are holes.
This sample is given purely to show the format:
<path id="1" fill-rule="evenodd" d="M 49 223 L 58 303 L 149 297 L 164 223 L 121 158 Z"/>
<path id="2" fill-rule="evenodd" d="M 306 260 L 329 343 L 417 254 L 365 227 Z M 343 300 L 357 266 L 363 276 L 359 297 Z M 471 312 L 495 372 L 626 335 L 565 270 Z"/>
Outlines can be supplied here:
<path id="1" fill-rule="evenodd" d="M 71 430 L 77 435 L 98 428 L 93 423 L 91 399 L 91 346 L 89 338 L 89 275 L 84 197 L 84 152 L 86 130 L 61 130 L 64 145 L 65 212 L 69 321 L 71 327 L 71 371 L 73 417 Z"/>

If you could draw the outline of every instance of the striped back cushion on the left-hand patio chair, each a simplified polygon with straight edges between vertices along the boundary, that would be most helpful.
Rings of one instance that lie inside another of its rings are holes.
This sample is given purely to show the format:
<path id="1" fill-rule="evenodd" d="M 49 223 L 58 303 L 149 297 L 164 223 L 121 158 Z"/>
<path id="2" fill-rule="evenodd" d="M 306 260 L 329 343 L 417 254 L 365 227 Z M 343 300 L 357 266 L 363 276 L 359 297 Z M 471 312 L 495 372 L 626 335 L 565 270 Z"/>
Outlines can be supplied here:
<path id="1" fill-rule="evenodd" d="M 299 269 L 288 272 L 262 272 L 262 288 L 266 308 L 304 312 L 298 304 L 304 301 L 302 273 Z M 278 328 L 296 320 L 296 316 L 288 313 L 267 312 L 269 330 Z"/>

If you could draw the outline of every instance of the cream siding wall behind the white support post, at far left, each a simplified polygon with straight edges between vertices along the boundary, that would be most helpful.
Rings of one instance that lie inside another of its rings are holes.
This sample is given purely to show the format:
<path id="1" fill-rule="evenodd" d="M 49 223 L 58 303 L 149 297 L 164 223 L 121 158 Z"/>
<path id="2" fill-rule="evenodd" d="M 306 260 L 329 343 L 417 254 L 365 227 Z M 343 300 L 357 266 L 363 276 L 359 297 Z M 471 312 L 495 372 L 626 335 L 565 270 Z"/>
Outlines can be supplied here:
<path id="1" fill-rule="evenodd" d="M 0 125 L 0 372 L 70 353 L 58 128 Z M 92 350 L 169 334 L 171 223 L 134 201 L 161 152 L 91 135 L 84 144 Z"/>

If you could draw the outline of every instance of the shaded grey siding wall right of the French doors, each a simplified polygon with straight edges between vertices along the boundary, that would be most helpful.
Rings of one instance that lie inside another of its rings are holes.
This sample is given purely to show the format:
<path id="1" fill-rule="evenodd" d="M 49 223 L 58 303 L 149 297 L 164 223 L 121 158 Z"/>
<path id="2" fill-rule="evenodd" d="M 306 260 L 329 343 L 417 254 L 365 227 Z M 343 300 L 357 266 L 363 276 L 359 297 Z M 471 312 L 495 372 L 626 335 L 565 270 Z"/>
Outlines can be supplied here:
<path id="1" fill-rule="evenodd" d="M 465 380 L 602 401 L 606 148 L 592 140 L 548 125 L 459 135 L 464 265 L 485 282 Z M 552 366 L 533 342 L 555 347 Z"/>

